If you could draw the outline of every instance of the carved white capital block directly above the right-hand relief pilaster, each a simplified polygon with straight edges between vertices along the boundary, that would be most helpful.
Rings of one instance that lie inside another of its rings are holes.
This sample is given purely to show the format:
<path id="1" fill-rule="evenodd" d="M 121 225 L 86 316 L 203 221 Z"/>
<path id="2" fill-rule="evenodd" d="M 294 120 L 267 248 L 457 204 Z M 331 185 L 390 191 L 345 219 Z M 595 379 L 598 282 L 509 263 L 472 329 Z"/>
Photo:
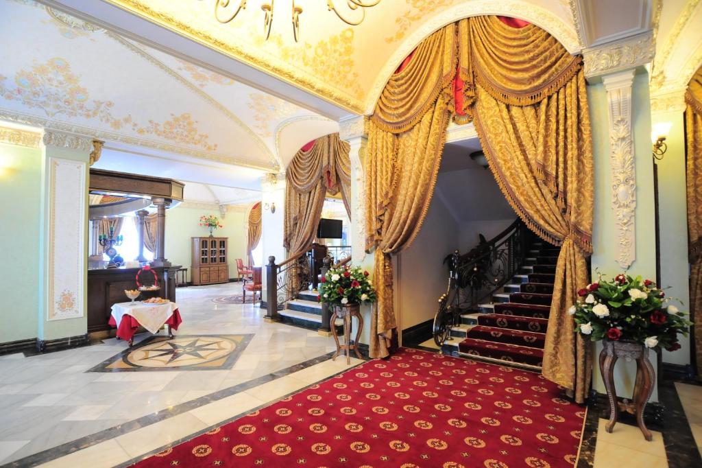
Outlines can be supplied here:
<path id="1" fill-rule="evenodd" d="M 646 65 L 655 54 L 652 31 L 603 44 L 583 51 L 585 77 L 592 79 Z"/>

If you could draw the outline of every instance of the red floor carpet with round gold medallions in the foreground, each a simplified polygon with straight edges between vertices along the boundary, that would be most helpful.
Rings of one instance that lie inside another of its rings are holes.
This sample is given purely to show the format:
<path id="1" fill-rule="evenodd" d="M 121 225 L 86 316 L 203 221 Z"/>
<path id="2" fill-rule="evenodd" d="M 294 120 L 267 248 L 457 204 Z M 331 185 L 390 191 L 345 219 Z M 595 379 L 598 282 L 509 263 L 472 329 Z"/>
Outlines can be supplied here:
<path id="1" fill-rule="evenodd" d="M 584 417 L 532 372 L 402 349 L 135 466 L 571 467 Z"/>

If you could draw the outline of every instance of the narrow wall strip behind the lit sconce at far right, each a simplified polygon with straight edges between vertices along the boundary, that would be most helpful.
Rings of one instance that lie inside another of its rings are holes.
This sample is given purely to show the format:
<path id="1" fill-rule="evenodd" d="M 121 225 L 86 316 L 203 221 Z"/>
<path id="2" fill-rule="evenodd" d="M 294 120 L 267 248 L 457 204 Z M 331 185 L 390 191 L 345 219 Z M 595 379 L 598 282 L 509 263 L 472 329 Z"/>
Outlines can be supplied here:
<path id="1" fill-rule="evenodd" d="M 682 110 L 651 116 L 654 124 L 673 124 L 666 143 L 668 150 L 658 161 L 658 207 L 661 226 L 661 286 L 675 298 L 673 304 L 689 312 L 689 264 L 687 262 L 687 194 L 685 190 L 685 142 Z M 689 338 L 680 337 L 681 349 L 663 351 L 666 363 L 689 364 Z"/>

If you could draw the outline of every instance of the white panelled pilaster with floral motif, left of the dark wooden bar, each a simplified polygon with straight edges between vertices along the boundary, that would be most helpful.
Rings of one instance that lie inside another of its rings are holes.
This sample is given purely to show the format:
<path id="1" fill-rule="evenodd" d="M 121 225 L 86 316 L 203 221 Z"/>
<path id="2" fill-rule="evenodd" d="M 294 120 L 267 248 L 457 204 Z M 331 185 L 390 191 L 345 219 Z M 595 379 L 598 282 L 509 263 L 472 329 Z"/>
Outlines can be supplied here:
<path id="1" fill-rule="evenodd" d="M 43 278 L 37 346 L 44 351 L 54 340 L 87 339 L 88 161 L 93 140 L 45 129 L 42 143 Z"/>

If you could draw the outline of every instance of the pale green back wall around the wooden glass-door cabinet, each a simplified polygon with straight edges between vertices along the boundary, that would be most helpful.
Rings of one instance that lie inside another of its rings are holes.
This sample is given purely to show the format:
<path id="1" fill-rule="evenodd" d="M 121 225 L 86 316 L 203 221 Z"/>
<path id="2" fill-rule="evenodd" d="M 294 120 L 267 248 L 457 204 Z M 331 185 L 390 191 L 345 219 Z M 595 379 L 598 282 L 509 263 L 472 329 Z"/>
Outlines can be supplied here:
<path id="1" fill-rule="evenodd" d="M 200 216 L 213 214 L 220 218 L 224 228 L 217 229 L 213 235 L 220 238 L 229 238 L 229 277 L 237 278 L 236 259 L 243 259 L 246 263 L 246 212 L 230 211 L 222 219 L 219 211 L 183 206 L 166 210 L 166 259 L 173 265 L 182 265 L 187 268 L 187 280 L 190 281 L 192 273 L 191 249 L 194 237 L 207 237 L 207 228 L 198 226 Z"/>

